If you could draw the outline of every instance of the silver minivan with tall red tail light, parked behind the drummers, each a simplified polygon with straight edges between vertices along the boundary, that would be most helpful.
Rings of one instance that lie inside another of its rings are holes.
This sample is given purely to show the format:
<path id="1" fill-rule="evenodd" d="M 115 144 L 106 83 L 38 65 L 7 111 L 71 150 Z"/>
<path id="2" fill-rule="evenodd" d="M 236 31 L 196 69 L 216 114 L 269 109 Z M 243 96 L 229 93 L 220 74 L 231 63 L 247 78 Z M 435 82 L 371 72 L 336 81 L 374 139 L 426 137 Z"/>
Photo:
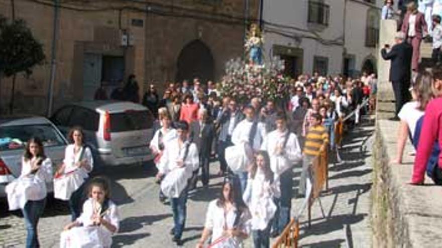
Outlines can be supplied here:
<path id="1" fill-rule="evenodd" d="M 63 106 L 51 120 L 65 135 L 73 126 L 82 127 L 96 164 L 133 164 L 153 159 L 149 142 L 154 117 L 141 104 L 84 101 Z"/>

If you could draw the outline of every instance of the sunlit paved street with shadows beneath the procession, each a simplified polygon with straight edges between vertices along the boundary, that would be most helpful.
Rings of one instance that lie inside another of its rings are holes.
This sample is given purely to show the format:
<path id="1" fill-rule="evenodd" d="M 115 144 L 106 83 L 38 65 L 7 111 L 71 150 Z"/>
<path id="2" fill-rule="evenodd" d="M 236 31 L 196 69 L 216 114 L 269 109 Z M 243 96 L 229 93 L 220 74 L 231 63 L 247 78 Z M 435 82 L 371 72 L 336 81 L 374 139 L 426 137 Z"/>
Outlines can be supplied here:
<path id="1" fill-rule="evenodd" d="M 370 247 L 370 189 L 372 125 L 356 128 L 347 136 L 341 152 L 343 164 L 332 165 L 329 191 L 321 203 L 312 208 L 312 225 L 307 228 L 306 214 L 301 217 L 302 247 Z M 218 170 L 217 163 L 211 172 Z M 153 181 L 152 164 L 118 166 L 104 174 L 113 180 L 113 198 L 122 216 L 120 232 L 114 236 L 114 247 L 174 247 L 169 230 L 172 226 L 170 206 L 158 201 L 158 186 Z M 297 188 L 299 168 L 295 169 Z M 220 191 L 221 178 L 214 177 L 210 187 L 199 187 L 189 195 L 184 246 L 194 247 L 203 228 L 207 202 Z M 295 190 L 296 191 L 296 190 Z M 301 199 L 293 199 L 293 212 Z M 58 200 L 48 202 L 40 220 L 39 238 L 42 247 L 58 247 L 59 233 L 69 222 L 67 205 Z M 26 232 L 20 212 L 9 212 L 0 206 L 0 247 L 24 246 Z M 251 247 L 250 238 L 245 242 Z"/>

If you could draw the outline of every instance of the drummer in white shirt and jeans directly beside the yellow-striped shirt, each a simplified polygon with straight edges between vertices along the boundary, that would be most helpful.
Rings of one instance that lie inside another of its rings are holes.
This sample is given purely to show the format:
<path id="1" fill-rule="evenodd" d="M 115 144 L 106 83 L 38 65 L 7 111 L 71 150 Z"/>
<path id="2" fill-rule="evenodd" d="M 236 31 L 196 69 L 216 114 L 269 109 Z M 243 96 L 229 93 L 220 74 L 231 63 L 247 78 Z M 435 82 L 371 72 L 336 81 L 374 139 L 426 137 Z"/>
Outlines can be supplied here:
<path id="1" fill-rule="evenodd" d="M 293 195 L 293 165 L 302 159 L 301 148 L 295 134 L 287 129 L 287 119 L 283 112 L 276 117 L 276 130 L 264 139 L 261 150 L 270 156 L 270 168 L 275 180 L 280 180 L 281 197 L 275 199 L 278 210 L 273 218 L 272 236 L 282 233 L 290 221 L 291 199 Z"/>

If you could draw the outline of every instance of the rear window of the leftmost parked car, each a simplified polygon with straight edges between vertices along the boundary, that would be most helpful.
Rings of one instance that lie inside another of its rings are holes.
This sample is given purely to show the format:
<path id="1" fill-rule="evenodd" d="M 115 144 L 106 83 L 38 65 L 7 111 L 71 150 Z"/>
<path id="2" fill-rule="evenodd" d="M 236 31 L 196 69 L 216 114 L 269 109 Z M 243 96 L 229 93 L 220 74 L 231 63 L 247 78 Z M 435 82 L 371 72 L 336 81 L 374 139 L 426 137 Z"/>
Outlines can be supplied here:
<path id="1" fill-rule="evenodd" d="M 45 147 L 66 145 L 50 124 L 4 126 L 0 127 L 0 151 L 24 149 L 32 137 L 39 138 Z"/>

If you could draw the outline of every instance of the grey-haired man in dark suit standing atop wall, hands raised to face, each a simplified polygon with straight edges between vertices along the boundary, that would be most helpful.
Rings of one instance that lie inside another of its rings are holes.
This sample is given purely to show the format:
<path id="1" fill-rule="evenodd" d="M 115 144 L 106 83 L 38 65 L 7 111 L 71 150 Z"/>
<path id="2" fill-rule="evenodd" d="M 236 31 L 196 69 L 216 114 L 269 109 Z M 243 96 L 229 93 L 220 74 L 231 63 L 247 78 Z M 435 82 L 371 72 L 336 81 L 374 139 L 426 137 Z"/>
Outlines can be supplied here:
<path id="1" fill-rule="evenodd" d="M 381 50 L 384 60 L 391 60 L 390 82 L 393 84 L 394 98 L 396 99 L 396 111 L 394 120 L 398 120 L 397 114 L 402 106 L 411 100 L 408 89 L 411 79 L 411 57 L 413 48 L 405 40 L 405 34 L 399 32 L 396 34 L 395 42 L 391 50 L 389 45 Z"/>

